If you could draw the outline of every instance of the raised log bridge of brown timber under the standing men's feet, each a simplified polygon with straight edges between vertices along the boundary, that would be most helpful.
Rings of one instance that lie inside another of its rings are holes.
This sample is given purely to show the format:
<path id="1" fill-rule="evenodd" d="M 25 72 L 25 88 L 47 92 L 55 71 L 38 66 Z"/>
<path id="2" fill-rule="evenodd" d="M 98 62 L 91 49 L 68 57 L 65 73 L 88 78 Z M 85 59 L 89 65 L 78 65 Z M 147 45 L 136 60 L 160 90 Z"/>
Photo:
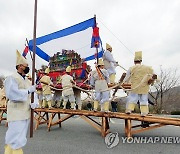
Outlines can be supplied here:
<path id="1" fill-rule="evenodd" d="M 0 123 L 6 120 L 3 117 L 3 113 L 7 113 L 5 107 L 0 107 Z M 134 134 L 141 133 L 144 131 L 152 130 L 166 125 L 180 126 L 179 118 L 169 118 L 169 117 L 159 117 L 155 115 L 148 115 L 142 117 L 140 114 L 126 114 L 120 112 L 94 112 L 87 110 L 70 110 L 70 109 L 34 109 L 34 119 L 35 119 L 35 130 L 38 129 L 39 125 L 46 124 L 47 131 L 50 131 L 52 126 L 58 125 L 62 127 L 62 122 L 68 120 L 74 115 L 79 115 L 84 121 L 89 123 L 97 131 L 100 132 L 102 137 L 105 137 L 110 132 L 109 119 L 124 119 L 124 131 L 127 137 L 132 137 Z M 63 115 L 63 116 L 62 116 Z M 56 118 L 55 118 L 56 117 Z M 99 119 L 92 117 L 100 117 Z M 133 125 L 133 121 L 148 122 L 148 126 L 143 128 L 143 124 Z"/>

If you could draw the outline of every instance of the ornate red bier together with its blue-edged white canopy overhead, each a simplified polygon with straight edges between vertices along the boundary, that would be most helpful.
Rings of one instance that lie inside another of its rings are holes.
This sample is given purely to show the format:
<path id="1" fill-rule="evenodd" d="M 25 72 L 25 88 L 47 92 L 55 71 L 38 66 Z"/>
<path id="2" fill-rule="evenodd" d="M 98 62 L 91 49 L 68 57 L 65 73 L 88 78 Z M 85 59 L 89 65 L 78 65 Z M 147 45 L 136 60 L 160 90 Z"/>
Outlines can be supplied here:
<path id="1" fill-rule="evenodd" d="M 101 58 L 104 52 L 99 28 L 96 25 L 94 17 L 36 38 L 36 54 L 49 62 L 49 76 L 55 85 L 59 85 L 57 84 L 59 77 L 70 65 L 72 67 L 71 75 L 82 87 L 82 83 L 87 78 L 88 65 L 86 61 L 97 57 Z M 30 51 L 33 51 L 33 40 L 29 41 L 28 46 Z"/>

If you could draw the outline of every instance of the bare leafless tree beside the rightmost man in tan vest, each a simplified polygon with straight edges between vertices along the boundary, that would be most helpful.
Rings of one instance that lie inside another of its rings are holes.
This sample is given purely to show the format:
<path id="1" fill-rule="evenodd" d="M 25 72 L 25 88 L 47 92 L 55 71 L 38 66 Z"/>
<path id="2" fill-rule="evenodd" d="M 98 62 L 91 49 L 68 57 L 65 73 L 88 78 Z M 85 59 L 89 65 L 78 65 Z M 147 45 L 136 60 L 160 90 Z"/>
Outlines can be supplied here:
<path id="1" fill-rule="evenodd" d="M 179 76 L 177 75 L 177 69 L 163 69 L 160 67 L 158 77 L 160 81 L 154 85 L 156 91 L 151 93 L 151 96 L 155 101 L 156 113 L 161 113 L 164 103 L 168 101 L 172 95 L 175 97 L 175 94 L 168 92 L 179 85 Z"/>

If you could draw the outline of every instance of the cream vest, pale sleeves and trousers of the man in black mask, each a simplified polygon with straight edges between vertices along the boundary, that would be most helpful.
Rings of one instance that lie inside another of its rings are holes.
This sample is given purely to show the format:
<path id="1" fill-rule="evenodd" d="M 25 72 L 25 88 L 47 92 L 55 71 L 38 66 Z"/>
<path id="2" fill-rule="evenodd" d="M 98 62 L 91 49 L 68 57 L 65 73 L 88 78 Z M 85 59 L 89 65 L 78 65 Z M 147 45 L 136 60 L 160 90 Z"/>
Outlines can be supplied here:
<path id="1" fill-rule="evenodd" d="M 22 148 L 26 142 L 26 134 L 30 118 L 30 87 L 27 78 L 23 78 L 19 73 L 9 76 L 5 80 L 7 103 L 8 130 L 6 132 L 5 143 L 12 149 Z"/>

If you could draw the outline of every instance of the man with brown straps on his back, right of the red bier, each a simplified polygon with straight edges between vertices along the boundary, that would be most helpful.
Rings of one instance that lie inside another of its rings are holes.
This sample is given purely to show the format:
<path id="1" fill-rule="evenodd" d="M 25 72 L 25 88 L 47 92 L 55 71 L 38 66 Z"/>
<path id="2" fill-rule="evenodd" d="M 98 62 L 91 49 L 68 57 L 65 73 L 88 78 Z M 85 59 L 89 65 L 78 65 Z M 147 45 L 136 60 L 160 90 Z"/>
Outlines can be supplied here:
<path id="1" fill-rule="evenodd" d="M 99 103 L 101 104 L 101 111 L 109 111 L 109 74 L 106 69 L 104 69 L 104 62 L 99 59 L 96 70 L 91 74 L 90 85 L 95 87 L 95 101 L 94 101 L 94 111 L 97 111 Z M 103 91 L 105 90 L 105 91 Z"/>

